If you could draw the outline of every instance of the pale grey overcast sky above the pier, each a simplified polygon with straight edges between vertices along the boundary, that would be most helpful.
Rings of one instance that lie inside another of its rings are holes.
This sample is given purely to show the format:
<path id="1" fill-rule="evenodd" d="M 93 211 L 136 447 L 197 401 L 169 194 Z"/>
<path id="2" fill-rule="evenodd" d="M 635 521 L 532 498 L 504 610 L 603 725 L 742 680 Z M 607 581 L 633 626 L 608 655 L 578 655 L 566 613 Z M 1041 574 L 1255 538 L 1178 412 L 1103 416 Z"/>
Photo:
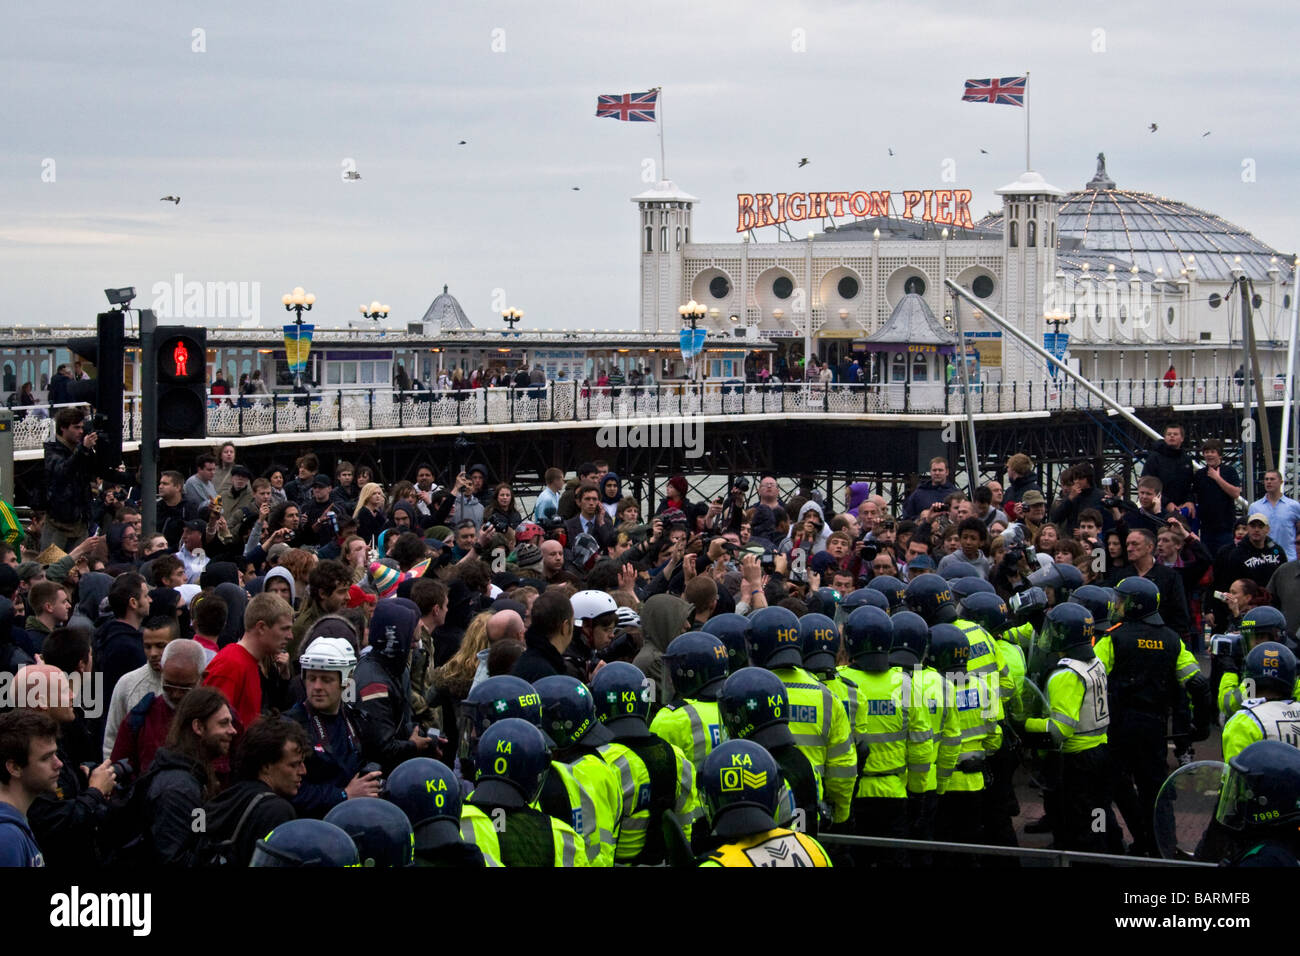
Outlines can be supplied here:
<path id="1" fill-rule="evenodd" d="M 1082 187 L 1105 151 L 1119 187 L 1290 254 L 1297 18 L 1199 1 L 10 5 L 3 289 L 18 324 L 92 321 L 105 286 L 147 306 L 181 273 L 259 282 L 263 325 L 295 285 L 318 324 L 378 299 L 404 325 L 447 284 L 480 326 L 508 304 L 538 326 L 632 328 L 629 198 L 659 143 L 595 118 L 598 94 L 663 87 L 668 173 L 702 200 L 693 238 L 734 241 L 737 193 L 946 185 L 975 190 L 976 217 L 996 208 L 1024 113 L 962 103 L 962 82 L 1026 69 L 1048 182 Z"/>

